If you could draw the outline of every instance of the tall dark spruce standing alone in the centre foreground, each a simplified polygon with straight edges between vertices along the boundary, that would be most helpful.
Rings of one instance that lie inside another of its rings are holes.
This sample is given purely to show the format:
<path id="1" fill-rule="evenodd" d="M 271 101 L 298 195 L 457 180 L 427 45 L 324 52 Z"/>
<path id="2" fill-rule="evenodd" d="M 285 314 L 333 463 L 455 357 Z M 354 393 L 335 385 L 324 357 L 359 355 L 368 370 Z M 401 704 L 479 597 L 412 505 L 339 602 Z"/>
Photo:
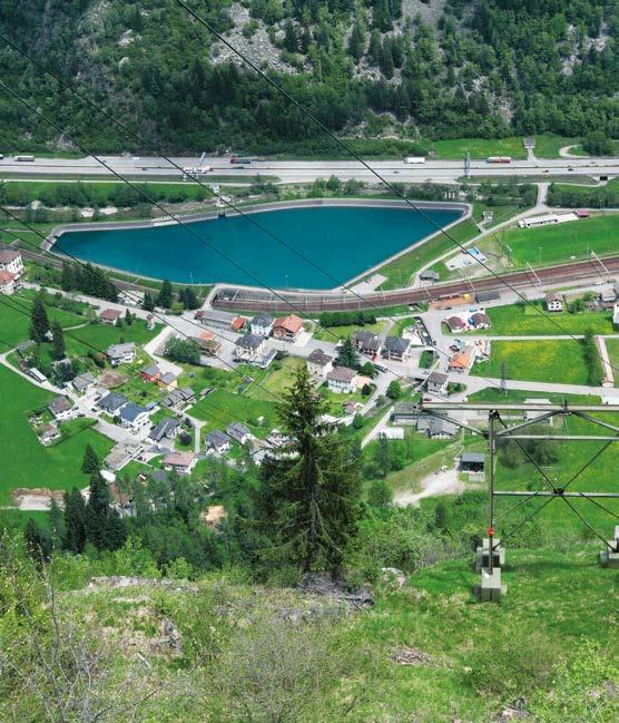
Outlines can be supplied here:
<path id="1" fill-rule="evenodd" d="M 338 575 L 356 534 L 361 483 L 351 449 L 323 421 L 326 407 L 301 368 L 278 407 L 293 453 L 265 461 L 257 510 L 272 530 L 272 549 L 286 561 L 304 571 L 326 566 Z"/>

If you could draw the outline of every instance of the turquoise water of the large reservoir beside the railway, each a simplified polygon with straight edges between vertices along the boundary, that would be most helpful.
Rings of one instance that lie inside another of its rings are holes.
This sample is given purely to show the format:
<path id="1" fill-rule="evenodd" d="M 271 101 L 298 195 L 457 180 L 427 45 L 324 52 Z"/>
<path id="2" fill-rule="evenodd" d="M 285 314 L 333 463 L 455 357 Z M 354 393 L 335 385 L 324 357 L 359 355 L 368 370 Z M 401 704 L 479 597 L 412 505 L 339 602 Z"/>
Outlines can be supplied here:
<path id="1" fill-rule="evenodd" d="M 458 208 L 424 213 L 440 227 L 462 215 Z M 175 282 L 333 289 L 436 231 L 412 208 L 321 206 L 250 217 L 308 261 L 243 216 L 187 224 L 202 240 L 184 225 L 71 231 L 56 251 Z"/>

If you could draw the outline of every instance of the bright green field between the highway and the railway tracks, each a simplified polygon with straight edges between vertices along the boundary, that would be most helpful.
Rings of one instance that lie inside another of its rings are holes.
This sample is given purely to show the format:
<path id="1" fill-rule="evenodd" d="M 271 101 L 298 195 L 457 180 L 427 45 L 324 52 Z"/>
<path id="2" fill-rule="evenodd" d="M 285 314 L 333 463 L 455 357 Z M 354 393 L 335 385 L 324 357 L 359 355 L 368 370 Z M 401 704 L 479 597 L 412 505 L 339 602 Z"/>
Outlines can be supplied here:
<path id="1" fill-rule="evenodd" d="M 584 258 L 588 252 L 599 255 L 617 253 L 619 214 L 597 215 L 539 228 L 511 228 L 501 240 L 511 248 L 514 266 L 548 266 L 570 258 Z"/>

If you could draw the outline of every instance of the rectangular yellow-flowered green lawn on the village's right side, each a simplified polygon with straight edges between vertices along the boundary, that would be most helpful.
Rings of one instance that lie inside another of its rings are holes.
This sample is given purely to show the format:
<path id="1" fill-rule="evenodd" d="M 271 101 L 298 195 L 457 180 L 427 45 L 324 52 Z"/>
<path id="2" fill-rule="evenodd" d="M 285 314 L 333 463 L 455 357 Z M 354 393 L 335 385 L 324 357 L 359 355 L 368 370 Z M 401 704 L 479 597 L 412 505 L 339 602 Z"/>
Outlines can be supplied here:
<path id="1" fill-rule="evenodd" d="M 582 346 L 578 341 L 495 341 L 490 361 L 474 364 L 471 373 L 500 379 L 502 362 L 507 363 L 508 379 L 587 384 Z"/>

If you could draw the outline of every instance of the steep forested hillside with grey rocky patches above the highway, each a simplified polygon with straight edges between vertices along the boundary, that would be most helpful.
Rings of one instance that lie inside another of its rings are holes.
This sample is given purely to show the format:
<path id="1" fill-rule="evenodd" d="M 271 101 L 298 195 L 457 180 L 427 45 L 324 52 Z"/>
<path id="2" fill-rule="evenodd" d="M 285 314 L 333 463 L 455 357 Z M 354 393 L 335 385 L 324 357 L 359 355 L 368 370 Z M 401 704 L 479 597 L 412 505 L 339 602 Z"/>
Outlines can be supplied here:
<path id="1" fill-rule="evenodd" d="M 188 4 L 345 135 L 619 135 L 617 0 Z M 328 147 L 176 0 L 3 2 L 0 30 L 168 149 Z M 0 77 L 96 149 L 135 147 L 3 41 Z M 7 94 L 0 134 L 0 150 L 66 147 Z"/>

